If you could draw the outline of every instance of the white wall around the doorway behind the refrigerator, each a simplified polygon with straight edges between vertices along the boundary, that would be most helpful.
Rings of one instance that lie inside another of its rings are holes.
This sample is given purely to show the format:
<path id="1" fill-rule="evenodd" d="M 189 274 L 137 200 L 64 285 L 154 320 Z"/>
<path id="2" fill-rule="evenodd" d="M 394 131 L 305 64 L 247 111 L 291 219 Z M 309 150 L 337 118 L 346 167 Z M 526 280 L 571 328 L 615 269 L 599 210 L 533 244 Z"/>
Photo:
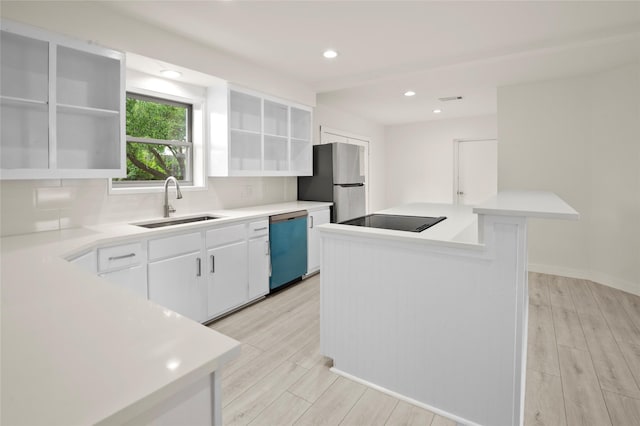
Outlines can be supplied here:
<path id="1" fill-rule="evenodd" d="M 314 144 L 320 143 L 320 126 L 366 136 L 369 142 L 369 209 L 381 210 L 389 207 L 385 197 L 386 185 L 386 148 L 384 127 L 353 114 L 322 105 L 322 95 L 314 111 Z"/>

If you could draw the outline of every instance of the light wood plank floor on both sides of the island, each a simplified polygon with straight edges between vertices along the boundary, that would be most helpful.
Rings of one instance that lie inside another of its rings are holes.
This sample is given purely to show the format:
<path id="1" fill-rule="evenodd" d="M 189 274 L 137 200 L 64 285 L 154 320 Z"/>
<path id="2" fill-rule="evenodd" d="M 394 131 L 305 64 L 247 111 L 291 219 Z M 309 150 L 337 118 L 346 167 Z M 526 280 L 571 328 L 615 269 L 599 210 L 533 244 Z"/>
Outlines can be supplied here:
<path id="1" fill-rule="evenodd" d="M 535 273 L 529 287 L 525 425 L 640 425 L 640 297 Z M 225 425 L 455 425 L 331 373 L 319 294 L 316 275 L 211 325 L 242 342 Z"/>

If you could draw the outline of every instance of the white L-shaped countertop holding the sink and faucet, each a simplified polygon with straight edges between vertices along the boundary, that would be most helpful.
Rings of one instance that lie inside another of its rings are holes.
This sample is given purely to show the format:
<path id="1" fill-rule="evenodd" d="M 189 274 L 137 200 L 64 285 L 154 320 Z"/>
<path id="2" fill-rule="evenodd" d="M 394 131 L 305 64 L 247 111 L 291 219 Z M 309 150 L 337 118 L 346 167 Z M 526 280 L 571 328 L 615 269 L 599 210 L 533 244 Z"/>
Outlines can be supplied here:
<path id="1" fill-rule="evenodd" d="M 131 297 L 64 257 L 98 244 L 329 205 L 203 212 L 224 218 L 167 228 L 120 223 L 2 238 L 1 423 L 122 423 L 239 353 L 235 340 Z"/>

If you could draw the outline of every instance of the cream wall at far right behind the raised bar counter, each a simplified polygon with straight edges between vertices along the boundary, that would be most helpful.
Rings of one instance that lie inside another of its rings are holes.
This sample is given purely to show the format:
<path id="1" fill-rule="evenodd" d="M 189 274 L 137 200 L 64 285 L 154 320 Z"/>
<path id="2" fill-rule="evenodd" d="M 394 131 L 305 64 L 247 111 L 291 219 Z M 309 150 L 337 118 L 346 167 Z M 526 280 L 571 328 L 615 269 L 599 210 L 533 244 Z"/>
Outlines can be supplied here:
<path id="1" fill-rule="evenodd" d="M 532 270 L 640 294 L 640 64 L 498 90 L 499 189 L 556 192 L 579 222 L 531 221 Z"/>

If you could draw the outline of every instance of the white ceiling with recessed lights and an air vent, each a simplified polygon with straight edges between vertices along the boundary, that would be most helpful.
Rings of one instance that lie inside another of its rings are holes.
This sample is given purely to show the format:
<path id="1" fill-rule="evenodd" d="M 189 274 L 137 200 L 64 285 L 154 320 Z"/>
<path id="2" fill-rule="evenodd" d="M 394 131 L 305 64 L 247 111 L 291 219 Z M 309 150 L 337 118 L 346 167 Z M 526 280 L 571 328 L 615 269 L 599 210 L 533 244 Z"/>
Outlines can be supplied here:
<path id="1" fill-rule="evenodd" d="M 498 86 L 640 60 L 640 1 L 108 4 L 290 76 L 319 103 L 381 124 L 493 114 Z M 338 58 L 324 59 L 327 48 Z M 417 95 L 404 97 L 409 89 Z M 452 95 L 464 99 L 437 99 Z"/>

